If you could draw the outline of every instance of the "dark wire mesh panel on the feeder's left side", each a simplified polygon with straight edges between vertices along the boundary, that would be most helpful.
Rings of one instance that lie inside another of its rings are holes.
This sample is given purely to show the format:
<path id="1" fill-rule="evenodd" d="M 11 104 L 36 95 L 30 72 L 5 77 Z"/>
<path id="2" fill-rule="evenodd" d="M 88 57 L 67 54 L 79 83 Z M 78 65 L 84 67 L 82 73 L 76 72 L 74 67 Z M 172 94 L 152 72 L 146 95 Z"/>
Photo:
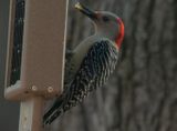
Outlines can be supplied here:
<path id="1" fill-rule="evenodd" d="M 24 0 L 15 1 L 10 84 L 14 84 L 18 80 L 20 80 L 22 41 L 23 41 L 23 23 L 24 23 L 24 2 L 25 2 Z"/>

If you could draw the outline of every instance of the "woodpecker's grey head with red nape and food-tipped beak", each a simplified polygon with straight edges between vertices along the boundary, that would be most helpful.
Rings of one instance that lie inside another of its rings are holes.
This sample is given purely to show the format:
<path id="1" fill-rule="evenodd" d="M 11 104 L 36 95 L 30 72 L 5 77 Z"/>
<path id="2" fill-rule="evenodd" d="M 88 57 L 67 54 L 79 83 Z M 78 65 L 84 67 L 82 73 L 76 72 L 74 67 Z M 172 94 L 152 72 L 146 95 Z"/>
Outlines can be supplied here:
<path id="1" fill-rule="evenodd" d="M 75 8 L 93 21 L 97 36 L 111 39 L 121 48 L 124 38 L 124 23 L 121 18 L 107 11 L 93 11 L 80 2 Z"/>

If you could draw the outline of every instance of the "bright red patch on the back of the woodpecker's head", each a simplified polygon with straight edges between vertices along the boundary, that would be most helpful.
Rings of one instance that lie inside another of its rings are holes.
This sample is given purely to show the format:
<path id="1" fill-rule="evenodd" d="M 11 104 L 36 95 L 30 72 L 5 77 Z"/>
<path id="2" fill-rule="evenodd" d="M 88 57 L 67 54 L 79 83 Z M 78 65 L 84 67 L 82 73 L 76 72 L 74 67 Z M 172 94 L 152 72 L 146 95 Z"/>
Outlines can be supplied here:
<path id="1" fill-rule="evenodd" d="M 122 19 L 119 19 L 119 18 L 117 18 L 117 22 L 118 22 L 118 26 L 119 26 L 119 33 L 118 33 L 118 37 L 116 39 L 116 44 L 119 49 L 121 44 L 122 44 L 122 41 L 124 39 L 124 23 L 123 23 Z"/>

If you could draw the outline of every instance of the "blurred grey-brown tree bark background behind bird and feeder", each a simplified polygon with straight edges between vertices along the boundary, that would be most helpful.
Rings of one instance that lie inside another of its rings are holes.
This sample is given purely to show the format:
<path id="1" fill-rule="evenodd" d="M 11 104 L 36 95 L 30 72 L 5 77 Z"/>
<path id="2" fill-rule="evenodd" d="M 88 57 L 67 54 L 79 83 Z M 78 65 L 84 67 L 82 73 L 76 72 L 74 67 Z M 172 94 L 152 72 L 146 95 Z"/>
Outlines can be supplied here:
<path id="1" fill-rule="evenodd" d="M 59 118 L 51 131 L 177 131 L 177 1 L 80 0 L 119 16 L 121 61 L 110 81 Z M 94 32 L 70 0 L 67 48 Z M 0 0 L 0 130 L 17 131 L 18 105 L 3 99 L 9 0 Z"/>

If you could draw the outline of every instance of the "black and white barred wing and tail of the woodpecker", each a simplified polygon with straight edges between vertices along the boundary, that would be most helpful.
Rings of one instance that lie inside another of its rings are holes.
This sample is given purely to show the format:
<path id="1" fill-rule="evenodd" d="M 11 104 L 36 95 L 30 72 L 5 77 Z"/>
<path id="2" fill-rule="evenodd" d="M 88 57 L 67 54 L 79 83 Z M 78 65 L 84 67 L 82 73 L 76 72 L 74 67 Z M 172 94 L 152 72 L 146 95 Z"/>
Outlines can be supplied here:
<path id="1" fill-rule="evenodd" d="M 91 47 L 73 81 L 45 113 L 45 123 L 51 123 L 62 112 L 82 102 L 90 92 L 106 82 L 118 58 L 117 49 L 113 44 L 108 40 L 102 40 Z"/>

